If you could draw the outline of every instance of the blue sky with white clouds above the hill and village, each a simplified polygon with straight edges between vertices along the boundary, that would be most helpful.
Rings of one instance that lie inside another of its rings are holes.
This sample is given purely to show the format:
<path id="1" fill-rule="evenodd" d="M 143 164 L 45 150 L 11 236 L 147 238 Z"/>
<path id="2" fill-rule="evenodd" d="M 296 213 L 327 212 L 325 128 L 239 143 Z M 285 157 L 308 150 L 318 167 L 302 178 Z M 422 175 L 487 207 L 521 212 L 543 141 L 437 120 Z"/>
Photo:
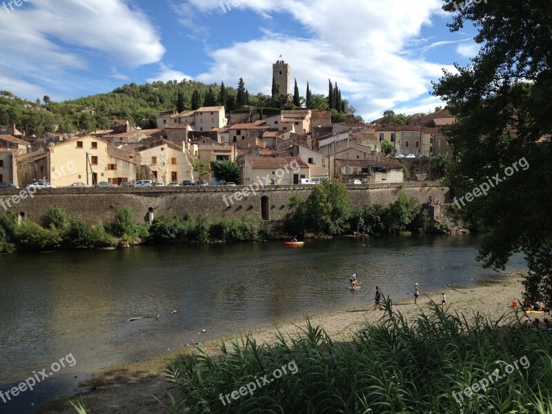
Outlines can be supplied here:
<path id="1" fill-rule="evenodd" d="M 3 0 L 0 0 L 0 2 Z M 19 4 L 19 6 L 17 6 Z M 431 112 L 431 81 L 477 54 L 443 0 L 13 0 L 0 8 L 0 90 L 31 101 L 193 79 L 270 95 L 290 64 L 305 96 L 337 81 L 366 121 Z"/>

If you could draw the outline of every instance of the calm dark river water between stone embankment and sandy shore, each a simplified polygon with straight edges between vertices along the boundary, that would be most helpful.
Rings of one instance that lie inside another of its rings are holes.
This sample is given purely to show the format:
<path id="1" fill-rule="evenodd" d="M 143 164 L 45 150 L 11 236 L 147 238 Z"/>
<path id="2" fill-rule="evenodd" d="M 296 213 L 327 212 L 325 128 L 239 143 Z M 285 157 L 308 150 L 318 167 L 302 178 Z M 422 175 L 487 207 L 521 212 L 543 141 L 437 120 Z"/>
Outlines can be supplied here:
<path id="1" fill-rule="evenodd" d="M 0 413 L 70 395 L 102 366 L 309 313 L 368 308 L 376 285 L 395 299 L 412 295 L 415 282 L 422 293 L 474 286 L 496 277 L 475 262 L 479 241 L 413 235 L 0 255 L 0 391 L 33 371 L 38 383 L 7 402 L 0 395 Z M 509 270 L 522 268 L 514 257 Z M 364 290 L 348 289 L 352 273 Z"/>

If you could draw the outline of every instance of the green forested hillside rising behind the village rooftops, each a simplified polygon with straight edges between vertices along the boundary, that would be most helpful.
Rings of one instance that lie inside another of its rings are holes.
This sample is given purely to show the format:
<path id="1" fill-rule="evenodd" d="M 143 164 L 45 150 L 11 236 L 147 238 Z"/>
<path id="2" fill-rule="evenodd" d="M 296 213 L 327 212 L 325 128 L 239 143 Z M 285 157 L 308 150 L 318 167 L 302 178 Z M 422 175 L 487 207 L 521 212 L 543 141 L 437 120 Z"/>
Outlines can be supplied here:
<path id="1" fill-rule="evenodd" d="M 337 88 L 337 83 L 335 87 Z M 48 96 L 37 98 L 34 102 L 26 101 L 8 90 L 0 90 L 0 125 L 16 124 L 26 135 L 109 129 L 112 119 L 128 119 L 132 126 L 155 128 L 156 112 L 181 112 L 201 106 L 217 105 L 226 106 L 226 111 L 229 112 L 244 106 L 294 108 L 306 105 L 308 108 L 325 110 L 333 104 L 332 114 L 336 121 L 343 121 L 346 113 L 355 112 L 354 108 L 348 106 L 346 99 L 341 99 L 339 90 L 339 93 L 331 92 L 332 99 L 329 105 L 326 96 L 312 95 L 310 90 L 307 90 L 306 94 L 308 99 L 299 97 L 297 83 L 294 92 L 293 102 L 287 102 L 284 97 L 275 95 L 275 92 L 273 96 L 262 93 L 250 95 L 243 79 L 239 79 L 237 88 L 225 86 L 224 83 L 206 85 L 187 79 L 166 83 L 157 81 L 145 85 L 130 83 L 112 92 L 63 102 L 54 102 Z M 335 109 L 336 106 L 338 109 Z M 143 124 L 144 119 L 150 119 L 150 122 Z"/>

